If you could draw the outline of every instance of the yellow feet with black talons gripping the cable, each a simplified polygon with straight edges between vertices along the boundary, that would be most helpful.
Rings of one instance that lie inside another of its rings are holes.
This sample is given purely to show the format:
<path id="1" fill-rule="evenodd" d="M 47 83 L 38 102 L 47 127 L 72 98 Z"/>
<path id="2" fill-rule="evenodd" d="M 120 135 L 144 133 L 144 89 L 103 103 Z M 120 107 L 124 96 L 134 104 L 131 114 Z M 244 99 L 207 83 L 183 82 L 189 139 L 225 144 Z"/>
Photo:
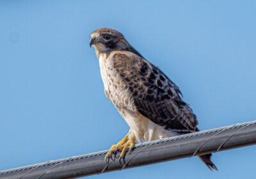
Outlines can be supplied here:
<path id="1" fill-rule="evenodd" d="M 106 163 L 109 163 L 110 158 L 112 160 L 115 160 L 117 153 L 120 153 L 119 161 L 121 163 L 121 160 L 124 160 L 127 150 L 129 150 L 130 153 L 132 152 L 134 144 L 135 144 L 135 137 L 132 135 L 129 136 L 129 134 L 127 134 L 124 137 L 124 139 L 122 139 L 119 143 L 111 146 L 111 148 L 109 149 L 108 153 L 106 153 L 106 156 L 105 156 Z"/>

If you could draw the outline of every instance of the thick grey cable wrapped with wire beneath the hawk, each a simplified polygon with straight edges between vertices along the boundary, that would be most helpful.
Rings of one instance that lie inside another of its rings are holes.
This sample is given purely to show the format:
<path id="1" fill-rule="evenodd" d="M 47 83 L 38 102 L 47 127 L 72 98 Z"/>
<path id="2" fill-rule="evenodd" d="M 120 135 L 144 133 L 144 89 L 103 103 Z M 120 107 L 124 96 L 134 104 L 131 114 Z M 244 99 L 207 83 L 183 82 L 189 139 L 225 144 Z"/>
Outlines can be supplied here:
<path id="1" fill-rule="evenodd" d="M 106 164 L 102 152 L 51 160 L 41 164 L 0 171 L 4 179 L 63 179 L 96 175 L 168 160 L 193 157 L 256 144 L 256 121 L 238 123 L 177 137 L 137 144 L 125 156 L 125 164 L 115 160 Z"/>

